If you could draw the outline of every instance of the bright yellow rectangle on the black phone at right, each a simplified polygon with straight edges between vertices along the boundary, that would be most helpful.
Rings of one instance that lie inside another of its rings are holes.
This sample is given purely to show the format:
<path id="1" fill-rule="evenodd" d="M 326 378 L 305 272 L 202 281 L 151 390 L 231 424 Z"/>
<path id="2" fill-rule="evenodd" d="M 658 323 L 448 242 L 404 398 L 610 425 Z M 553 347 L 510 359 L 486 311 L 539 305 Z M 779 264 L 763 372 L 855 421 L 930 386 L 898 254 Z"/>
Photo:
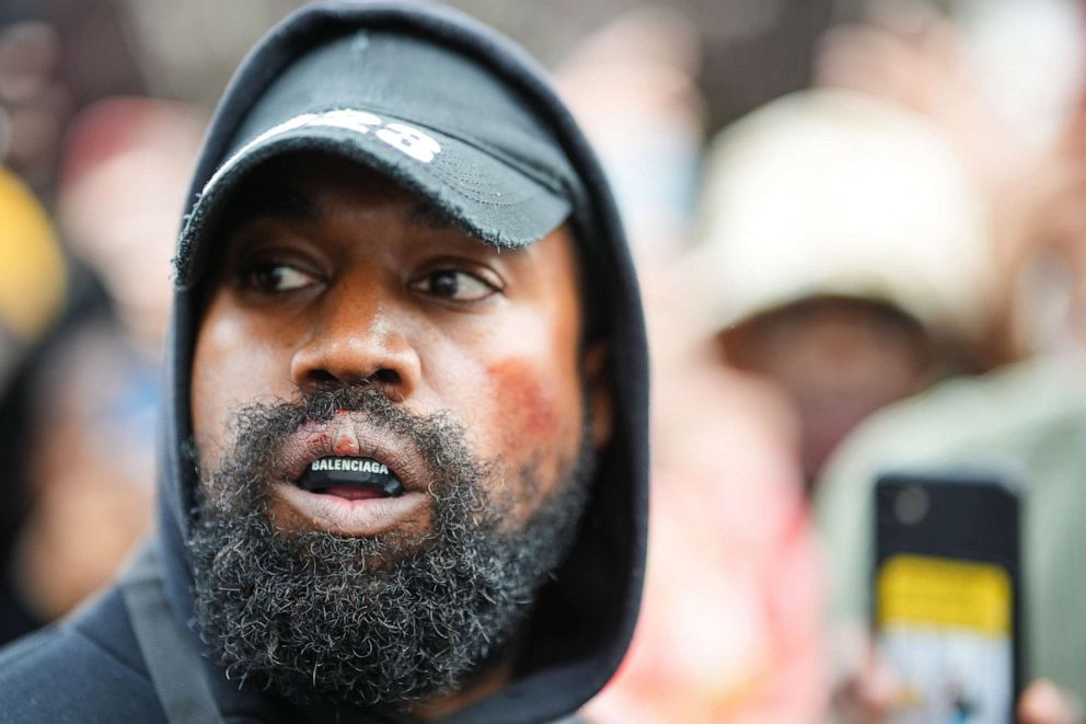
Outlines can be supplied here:
<path id="1" fill-rule="evenodd" d="M 876 579 L 880 628 L 921 625 L 1010 633 L 1010 576 L 994 563 L 925 555 L 887 559 Z"/>

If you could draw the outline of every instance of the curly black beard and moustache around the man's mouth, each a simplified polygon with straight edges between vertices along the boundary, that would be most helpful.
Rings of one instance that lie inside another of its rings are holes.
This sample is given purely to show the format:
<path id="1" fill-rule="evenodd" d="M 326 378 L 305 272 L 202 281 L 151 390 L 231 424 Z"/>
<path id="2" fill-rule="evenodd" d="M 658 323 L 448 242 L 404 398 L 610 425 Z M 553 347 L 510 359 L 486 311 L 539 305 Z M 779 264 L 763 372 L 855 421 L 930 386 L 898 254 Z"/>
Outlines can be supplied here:
<path id="1" fill-rule="evenodd" d="M 431 473 L 432 533 L 394 563 L 388 554 L 404 543 L 394 535 L 285 533 L 272 524 L 285 436 L 339 410 L 402 436 Z M 538 466 L 506 486 L 502 475 L 513 473 L 475 459 L 461 426 L 413 415 L 377 388 L 253 405 L 238 414 L 235 430 L 232 455 L 203 481 L 188 540 L 196 623 L 228 678 L 301 704 L 407 704 L 454 691 L 507 657 L 576 537 L 593 472 L 586 425 L 555 492 L 510 531 L 501 527 L 516 503 L 510 491 L 539 490 Z"/>

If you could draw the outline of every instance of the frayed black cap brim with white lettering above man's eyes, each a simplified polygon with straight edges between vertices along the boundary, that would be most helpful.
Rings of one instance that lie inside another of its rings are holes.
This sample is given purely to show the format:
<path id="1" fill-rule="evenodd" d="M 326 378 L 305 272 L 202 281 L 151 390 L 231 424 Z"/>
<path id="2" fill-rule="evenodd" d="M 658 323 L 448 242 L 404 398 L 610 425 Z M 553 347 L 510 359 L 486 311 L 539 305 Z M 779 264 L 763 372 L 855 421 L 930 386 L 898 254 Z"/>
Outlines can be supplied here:
<path id="1" fill-rule="evenodd" d="M 467 232 L 497 246 L 517 249 L 539 241 L 571 212 L 565 195 L 471 143 L 388 114 L 382 114 L 381 123 L 280 124 L 246 142 L 205 185 L 182 229 L 182 249 L 207 246 L 195 242 L 249 172 L 272 158 L 299 151 L 333 153 L 386 174 Z M 411 135 L 418 129 L 425 131 L 421 140 Z M 186 269 L 188 280 L 195 271 L 192 265 Z"/>

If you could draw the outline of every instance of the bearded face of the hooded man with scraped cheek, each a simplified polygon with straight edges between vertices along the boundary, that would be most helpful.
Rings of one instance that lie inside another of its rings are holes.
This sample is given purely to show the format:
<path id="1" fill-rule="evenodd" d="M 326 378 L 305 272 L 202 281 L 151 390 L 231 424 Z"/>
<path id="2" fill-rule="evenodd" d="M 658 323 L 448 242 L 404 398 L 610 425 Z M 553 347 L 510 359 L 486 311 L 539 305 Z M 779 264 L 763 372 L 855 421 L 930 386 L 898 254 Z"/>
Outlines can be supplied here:
<path id="1" fill-rule="evenodd" d="M 570 233 L 499 252 L 322 156 L 256 171 L 227 216 L 193 360 L 197 618 L 228 666 L 289 696 L 448 689 L 559 562 L 538 541 L 568 548 L 609 427 Z M 403 495 L 298 485 L 342 457 L 388 466 Z M 395 660 L 359 652 L 378 629 L 406 630 L 384 641 Z M 462 634 L 458 660 L 412 674 L 413 648 L 440 659 Z"/>

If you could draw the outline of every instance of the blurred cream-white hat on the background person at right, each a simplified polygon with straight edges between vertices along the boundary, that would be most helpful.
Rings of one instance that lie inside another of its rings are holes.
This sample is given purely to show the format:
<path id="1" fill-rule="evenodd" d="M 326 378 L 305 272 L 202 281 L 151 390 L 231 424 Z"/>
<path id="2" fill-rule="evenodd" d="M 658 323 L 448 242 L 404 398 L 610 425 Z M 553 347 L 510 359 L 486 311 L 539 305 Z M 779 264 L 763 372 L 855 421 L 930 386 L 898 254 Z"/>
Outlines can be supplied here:
<path id="1" fill-rule="evenodd" d="M 809 90 L 714 141 L 692 266 L 716 329 L 836 296 L 973 337 L 994 276 L 987 223 L 933 124 L 871 96 Z"/>

